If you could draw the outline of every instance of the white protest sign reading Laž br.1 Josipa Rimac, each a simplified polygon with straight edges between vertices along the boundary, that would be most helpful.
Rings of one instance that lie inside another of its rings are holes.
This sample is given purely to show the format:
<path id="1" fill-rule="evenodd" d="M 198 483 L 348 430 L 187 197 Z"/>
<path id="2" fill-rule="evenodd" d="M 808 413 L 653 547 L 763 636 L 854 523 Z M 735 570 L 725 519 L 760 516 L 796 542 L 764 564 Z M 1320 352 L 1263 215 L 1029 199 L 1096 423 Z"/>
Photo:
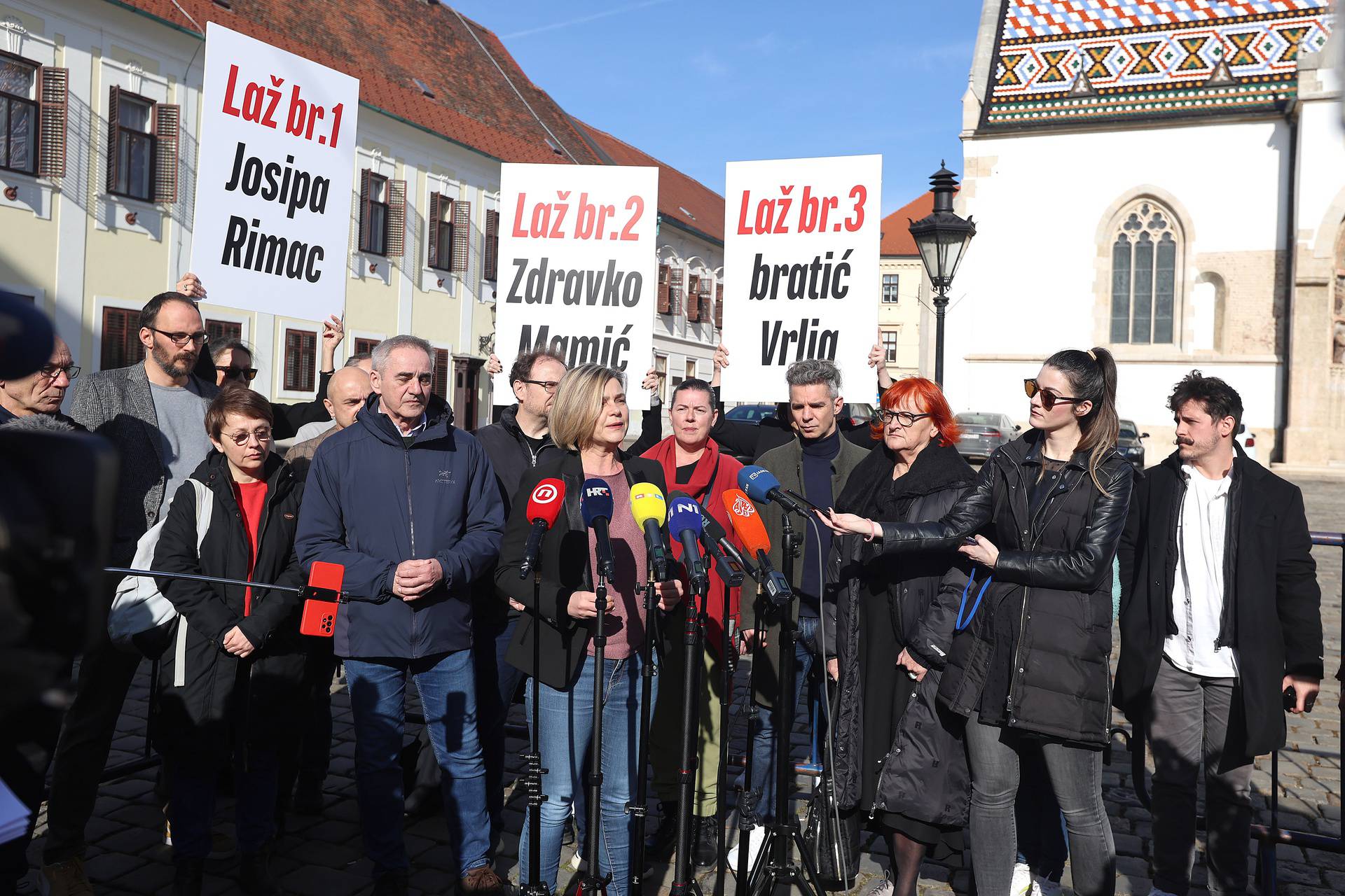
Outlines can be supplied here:
<path id="1" fill-rule="evenodd" d="M 206 26 L 191 270 L 213 302 L 340 313 L 358 109 L 355 78 Z"/>

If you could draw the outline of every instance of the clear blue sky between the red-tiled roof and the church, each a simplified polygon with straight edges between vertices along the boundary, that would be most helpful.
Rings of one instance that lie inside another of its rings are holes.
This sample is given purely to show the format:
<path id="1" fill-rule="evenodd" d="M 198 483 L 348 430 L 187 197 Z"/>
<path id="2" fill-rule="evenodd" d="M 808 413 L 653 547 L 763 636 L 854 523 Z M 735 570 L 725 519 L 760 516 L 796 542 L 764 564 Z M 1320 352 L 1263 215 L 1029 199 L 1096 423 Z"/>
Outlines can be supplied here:
<path id="1" fill-rule="evenodd" d="M 962 173 L 981 0 L 456 0 L 570 114 L 724 192 L 724 163 L 882 153 L 882 212 Z"/>

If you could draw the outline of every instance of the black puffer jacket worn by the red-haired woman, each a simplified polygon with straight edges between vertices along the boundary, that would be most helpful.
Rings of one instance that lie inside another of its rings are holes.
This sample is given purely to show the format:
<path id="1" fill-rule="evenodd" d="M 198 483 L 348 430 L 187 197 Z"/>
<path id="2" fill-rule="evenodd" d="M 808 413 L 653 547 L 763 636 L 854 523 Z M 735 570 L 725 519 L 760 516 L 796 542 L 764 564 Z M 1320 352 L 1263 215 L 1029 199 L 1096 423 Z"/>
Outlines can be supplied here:
<path id="1" fill-rule="evenodd" d="M 892 455 L 874 449 L 850 476 L 850 485 L 837 508 L 851 510 L 855 486 L 866 488 L 874 473 L 892 476 Z M 954 447 L 929 446 L 916 455 L 901 477 L 898 506 L 902 521 L 923 523 L 942 519 L 958 502 L 975 478 L 975 472 Z M 882 488 L 882 485 L 880 485 Z M 861 498 L 862 500 L 862 498 Z M 964 723 L 937 705 L 939 680 L 944 657 L 952 650 L 952 630 L 958 600 L 967 576 L 951 551 L 904 557 L 873 556 L 874 548 L 858 535 L 831 543 L 831 575 L 837 582 L 837 657 L 841 661 L 839 711 L 835 715 L 835 787 L 842 809 L 853 809 L 861 798 L 863 770 L 863 681 L 859 666 L 861 578 L 873 575 L 873 566 L 890 568 L 888 586 L 896 627 L 908 633 L 907 643 L 890 645 L 896 664 L 902 647 L 928 668 L 916 686 L 897 727 L 878 779 L 873 810 L 896 811 L 932 825 L 962 825 L 967 821 L 971 778 L 962 744 Z M 942 588 L 944 580 L 950 584 Z"/>

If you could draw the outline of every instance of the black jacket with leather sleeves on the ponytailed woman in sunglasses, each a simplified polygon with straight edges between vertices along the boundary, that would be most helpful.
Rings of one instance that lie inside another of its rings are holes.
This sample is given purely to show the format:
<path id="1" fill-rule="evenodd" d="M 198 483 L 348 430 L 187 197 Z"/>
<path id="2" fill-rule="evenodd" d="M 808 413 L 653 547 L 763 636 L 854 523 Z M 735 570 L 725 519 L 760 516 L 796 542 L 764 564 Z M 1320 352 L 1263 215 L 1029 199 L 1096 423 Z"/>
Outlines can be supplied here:
<path id="1" fill-rule="evenodd" d="M 1111 453 L 1098 469 L 1099 492 L 1088 455 L 1076 453 L 1061 473 L 1060 494 L 1032 525 L 1041 445 L 1042 434 L 1033 430 L 997 450 L 937 523 L 884 523 L 884 549 L 947 549 L 989 524 L 986 537 L 999 560 L 985 600 L 994 607 L 1020 590 L 1022 596 L 1007 725 L 1100 746 L 1111 719 L 1111 564 L 1134 472 Z M 939 699 L 960 715 L 981 701 L 994 656 L 993 615 L 983 606 L 968 629 L 972 637 L 956 639 L 939 686 Z"/>

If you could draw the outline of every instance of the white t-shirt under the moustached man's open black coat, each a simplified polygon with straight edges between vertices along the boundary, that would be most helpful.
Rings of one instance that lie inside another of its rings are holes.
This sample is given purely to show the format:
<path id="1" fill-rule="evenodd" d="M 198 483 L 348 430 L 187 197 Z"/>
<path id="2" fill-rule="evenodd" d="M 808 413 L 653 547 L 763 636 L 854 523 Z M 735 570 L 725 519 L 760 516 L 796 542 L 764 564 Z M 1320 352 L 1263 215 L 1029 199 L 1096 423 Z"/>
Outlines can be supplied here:
<path id="1" fill-rule="evenodd" d="M 1224 552 L 1232 478 L 1209 480 L 1184 463 L 1186 496 L 1177 517 L 1177 578 L 1173 619 L 1177 634 L 1163 643 L 1167 660 L 1208 678 L 1237 677 L 1229 646 L 1215 647 L 1224 615 Z"/>

